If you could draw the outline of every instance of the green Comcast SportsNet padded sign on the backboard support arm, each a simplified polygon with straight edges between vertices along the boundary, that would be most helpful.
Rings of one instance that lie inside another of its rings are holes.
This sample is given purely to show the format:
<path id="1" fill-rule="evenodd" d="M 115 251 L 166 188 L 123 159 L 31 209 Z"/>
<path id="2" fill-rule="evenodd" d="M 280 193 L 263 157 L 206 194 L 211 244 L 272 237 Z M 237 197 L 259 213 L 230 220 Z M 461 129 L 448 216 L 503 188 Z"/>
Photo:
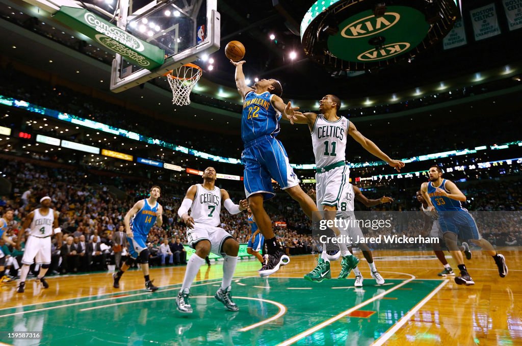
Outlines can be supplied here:
<path id="1" fill-rule="evenodd" d="M 85 8 L 62 6 L 55 18 L 65 25 L 96 40 L 106 49 L 120 54 L 128 62 L 149 70 L 165 62 L 165 52 L 89 12 Z"/>

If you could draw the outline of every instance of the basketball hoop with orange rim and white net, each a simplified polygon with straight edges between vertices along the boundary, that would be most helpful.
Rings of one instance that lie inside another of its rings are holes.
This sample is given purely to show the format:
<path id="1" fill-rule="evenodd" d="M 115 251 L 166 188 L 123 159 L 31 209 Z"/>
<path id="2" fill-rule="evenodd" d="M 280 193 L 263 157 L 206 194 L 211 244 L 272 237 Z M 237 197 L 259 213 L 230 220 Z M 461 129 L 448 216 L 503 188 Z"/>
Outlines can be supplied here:
<path id="1" fill-rule="evenodd" d="M 199 78 L 203 75 L 201 67 L 185 64 L 165 74 L 172 89 L 172 104 L 179 106 L 191 103 L 190 94 Z"/>

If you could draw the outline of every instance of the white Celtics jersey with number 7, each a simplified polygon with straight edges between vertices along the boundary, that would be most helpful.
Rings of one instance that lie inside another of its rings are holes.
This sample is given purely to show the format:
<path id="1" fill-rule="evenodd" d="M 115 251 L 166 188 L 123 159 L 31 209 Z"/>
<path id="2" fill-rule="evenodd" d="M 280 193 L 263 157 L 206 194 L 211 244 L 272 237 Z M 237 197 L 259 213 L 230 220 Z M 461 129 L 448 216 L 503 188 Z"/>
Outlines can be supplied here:
<path id="1" fill-rule="evenodd" d="M 194 223 L 206 224 L 217 227 L 221 223 L 221 190 L 214 186 L 213 190 L 207 190 L 201 184 L 196 184 L 197 192 L 191 206 L 191 216 Z"/>

